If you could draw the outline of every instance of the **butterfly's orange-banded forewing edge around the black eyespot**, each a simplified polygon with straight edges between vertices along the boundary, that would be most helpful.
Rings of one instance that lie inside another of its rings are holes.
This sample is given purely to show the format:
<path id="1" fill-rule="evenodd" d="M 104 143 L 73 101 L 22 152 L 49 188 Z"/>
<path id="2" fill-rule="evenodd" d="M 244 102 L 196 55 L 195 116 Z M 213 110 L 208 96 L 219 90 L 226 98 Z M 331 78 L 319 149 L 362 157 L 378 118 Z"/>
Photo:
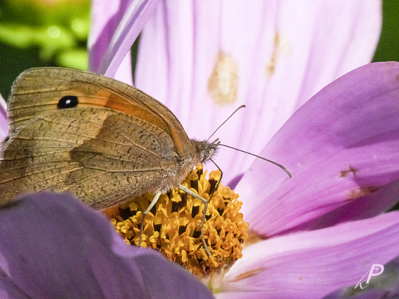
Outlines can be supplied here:
<path id="1" fill-rule="evenodd" d="M 7 102 L 10 130 L 55 109 L 66 95 L 77 96 L 79 107 L 109 108 L 157 126 L 170 136 L 178 154 L 191 150 L 181 123 L 161 102 L 117 80 L 65 68 L 34 68 L 18 76 Z"/>

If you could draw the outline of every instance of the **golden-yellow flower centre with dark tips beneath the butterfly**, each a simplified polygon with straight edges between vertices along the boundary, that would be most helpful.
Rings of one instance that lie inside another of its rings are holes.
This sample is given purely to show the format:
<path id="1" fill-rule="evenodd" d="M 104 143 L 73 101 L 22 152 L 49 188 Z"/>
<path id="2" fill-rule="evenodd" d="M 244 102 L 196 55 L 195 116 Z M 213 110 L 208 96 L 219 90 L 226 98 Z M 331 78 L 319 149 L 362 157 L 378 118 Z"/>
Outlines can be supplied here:
<path id="1" fill-rule="evenodd" d="M 242 257 L 242 243 L 248 237 L 248 223 L 239 212 L 242 202 L 238 194 L 219 184 L 220 171 L 212 171 L 209 179 L 202 164 L 190 172 L 182 185 L 208 200 L 203 225 L 205 242 L 211 255 L 203 247 L 200 223 L 204 205 L 201 200 L 174 188 L 161 195 L 154 208 L 145 216 L 141 246 L 159 250 L 170 261 L 181 264 L 199 278 L 225 271 Z M 143 211 L 154 194 L 135 198 L 111 219 L 127 244 L 138 246 Z"/>

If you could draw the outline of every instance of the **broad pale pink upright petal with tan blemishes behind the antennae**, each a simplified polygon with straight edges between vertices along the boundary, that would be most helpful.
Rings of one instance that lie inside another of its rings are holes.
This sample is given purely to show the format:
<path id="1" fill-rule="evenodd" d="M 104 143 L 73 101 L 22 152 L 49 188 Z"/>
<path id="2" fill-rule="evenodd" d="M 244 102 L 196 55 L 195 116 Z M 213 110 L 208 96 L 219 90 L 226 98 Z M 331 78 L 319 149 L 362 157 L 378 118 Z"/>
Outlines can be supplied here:
<path id="1" fill-rule="evenodd" d="M 143 29 L 135 84 L 200 139 L 246 104 L 217 136 L 258 154 L 310 96 L 371 60 L 380 29 L 379 0 L 163 1 Z M 228 182 L 254 157 L 221 148 L 217 161 Z"/>

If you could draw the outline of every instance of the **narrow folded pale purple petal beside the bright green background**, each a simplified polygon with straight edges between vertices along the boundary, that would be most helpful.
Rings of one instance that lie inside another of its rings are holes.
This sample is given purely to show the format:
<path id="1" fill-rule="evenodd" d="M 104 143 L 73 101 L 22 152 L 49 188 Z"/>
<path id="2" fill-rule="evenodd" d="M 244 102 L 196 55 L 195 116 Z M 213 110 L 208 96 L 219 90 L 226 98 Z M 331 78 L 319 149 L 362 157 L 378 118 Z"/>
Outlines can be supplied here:
<path id="1" fill-rule="evenodd" d="M 94 2 L 89 69 L 113 77 L 159 0 Z M 107 11 L 111 7 L 110 12 Z M 108 48 L 105 47 L 108 45 Z"/>

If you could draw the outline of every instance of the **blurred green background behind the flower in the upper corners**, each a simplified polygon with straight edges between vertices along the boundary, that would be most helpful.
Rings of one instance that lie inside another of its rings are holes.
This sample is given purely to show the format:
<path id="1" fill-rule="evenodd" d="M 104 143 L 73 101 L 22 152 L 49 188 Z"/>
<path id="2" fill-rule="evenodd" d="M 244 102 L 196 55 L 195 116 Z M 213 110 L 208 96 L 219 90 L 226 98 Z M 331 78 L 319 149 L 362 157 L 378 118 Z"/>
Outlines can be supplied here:
<path id="1" fill-rule="evenodd" d="M 5 99 L 23 70 L 87 69 L 90 4 L 90 0 L 0 0 L 0 93 Z M 384 0 L 382 15 L 373 61 L 399 61 L 399 0 Z"/>

